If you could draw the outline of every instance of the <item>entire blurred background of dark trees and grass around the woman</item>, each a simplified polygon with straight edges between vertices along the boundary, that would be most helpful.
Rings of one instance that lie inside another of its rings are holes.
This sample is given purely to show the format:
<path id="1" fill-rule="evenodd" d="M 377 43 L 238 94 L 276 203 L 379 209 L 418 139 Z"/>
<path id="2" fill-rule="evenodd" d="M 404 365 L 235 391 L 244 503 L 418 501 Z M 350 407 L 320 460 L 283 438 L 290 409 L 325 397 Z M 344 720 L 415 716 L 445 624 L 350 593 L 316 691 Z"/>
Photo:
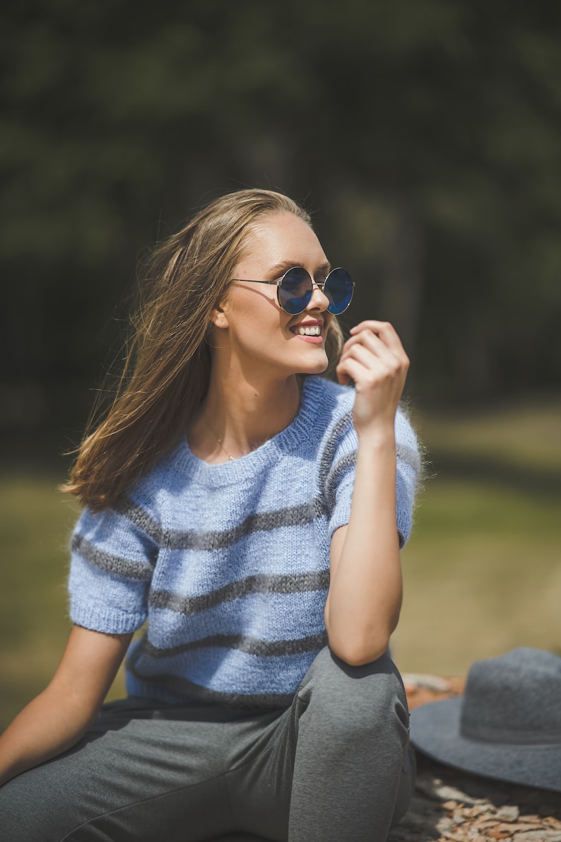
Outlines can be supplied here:
<path id="1" fill-rule="evenodd" d="M 561 5 L 4 0 L 0 45 L 8 707 L 66 634 L 75 510 L 56 479 L 119 357 L 137 259 L 246 186 L 313 212 L 357 280 L 347 325 L 391 320 L 412 360 L 433 478 L 405 669 L 558 646 Z"/>

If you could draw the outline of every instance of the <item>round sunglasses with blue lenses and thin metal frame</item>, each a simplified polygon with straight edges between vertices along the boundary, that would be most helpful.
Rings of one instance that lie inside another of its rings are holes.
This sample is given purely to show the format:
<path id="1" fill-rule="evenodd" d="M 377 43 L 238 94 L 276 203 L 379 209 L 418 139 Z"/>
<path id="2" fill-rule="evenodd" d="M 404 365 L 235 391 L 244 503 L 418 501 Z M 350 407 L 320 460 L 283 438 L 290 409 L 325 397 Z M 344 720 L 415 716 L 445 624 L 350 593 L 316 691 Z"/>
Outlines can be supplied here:
<path id="1" fill-rule="evenodd" d="M 277 287 L 277 301 L 284 312 L 291 316 L 304 312 L 317 286 L 329 299 L 327 312 L 339 316 L 347 310 L 354 292 L 354 281 L 347 269 L 331 269 L 325 280 L 312 280 L 310 272 L 302 266 L 294 266 L 283 274 L 280 280 L 250 280 L 232 278 L 245 284 L 270 284 Z"/>

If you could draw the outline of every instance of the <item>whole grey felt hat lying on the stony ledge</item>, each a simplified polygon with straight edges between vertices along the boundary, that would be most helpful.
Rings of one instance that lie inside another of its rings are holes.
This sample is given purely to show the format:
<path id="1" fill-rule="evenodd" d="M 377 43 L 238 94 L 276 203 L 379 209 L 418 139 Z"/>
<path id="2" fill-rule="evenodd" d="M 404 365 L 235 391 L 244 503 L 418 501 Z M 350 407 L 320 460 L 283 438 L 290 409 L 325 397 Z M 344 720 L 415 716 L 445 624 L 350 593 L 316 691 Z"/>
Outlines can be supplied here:
<path id="1" fill-rule="evenodd" d="M 561 658 L 520 648 L 476 661 L 463 696 L 411 711 L 411 741 L 440 763 L 561 792 Z"/>

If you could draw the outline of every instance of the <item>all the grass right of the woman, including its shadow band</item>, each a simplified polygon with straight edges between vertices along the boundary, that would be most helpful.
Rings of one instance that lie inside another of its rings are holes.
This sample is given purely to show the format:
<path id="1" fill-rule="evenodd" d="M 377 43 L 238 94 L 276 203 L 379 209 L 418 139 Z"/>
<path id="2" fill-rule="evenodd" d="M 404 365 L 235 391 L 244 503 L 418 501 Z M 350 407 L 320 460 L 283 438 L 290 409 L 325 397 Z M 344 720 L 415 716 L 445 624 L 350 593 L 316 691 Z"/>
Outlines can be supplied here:
<path id="1" fill-rule="evenodd" d="M 561 654 L 559 410 L 415 419 L 433 476 L 403 552 L 403 671 L 463 675 L 518 646 Z"/>

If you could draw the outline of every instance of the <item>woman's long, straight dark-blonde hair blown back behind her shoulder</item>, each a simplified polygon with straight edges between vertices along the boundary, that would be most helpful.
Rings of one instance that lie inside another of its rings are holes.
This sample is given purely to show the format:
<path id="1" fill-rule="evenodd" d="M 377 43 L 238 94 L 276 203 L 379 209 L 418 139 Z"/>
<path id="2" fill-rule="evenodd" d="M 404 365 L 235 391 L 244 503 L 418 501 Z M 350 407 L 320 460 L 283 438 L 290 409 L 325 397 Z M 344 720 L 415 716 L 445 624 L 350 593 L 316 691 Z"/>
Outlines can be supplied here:
<path id="1" fill-rule="evenodd" d="M 98 425 L 94 413 L 62 490 L 101 511 L 184 434 L 209 386 L 212 312 L 227 296 L 251 226 L 276 213 L 292 213 L 311 227 L 308 213 L 287 196 L 239 190 L 211 202 L 153 249 L 114 400 Z M 334 318 L 325 343 L 328 370 L 341 346 Z"/>

